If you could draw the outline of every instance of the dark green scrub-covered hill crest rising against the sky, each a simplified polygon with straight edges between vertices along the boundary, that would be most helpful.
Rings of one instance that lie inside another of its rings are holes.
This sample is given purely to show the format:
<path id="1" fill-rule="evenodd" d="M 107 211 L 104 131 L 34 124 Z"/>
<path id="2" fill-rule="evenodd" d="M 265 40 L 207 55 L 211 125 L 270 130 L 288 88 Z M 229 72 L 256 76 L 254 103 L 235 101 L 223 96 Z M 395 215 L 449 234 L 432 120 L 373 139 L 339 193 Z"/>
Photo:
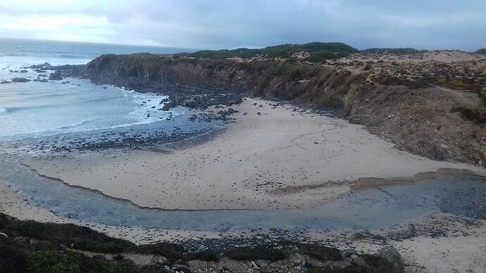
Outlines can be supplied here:
<path id="1" fill-rule="evenodd" d="M 307 51 L 311 56 L 305 61 L 320 62 L 335 58 L 348 56 L 351 53 L 357 53 L 358 50 L 352 46 L 342 43 L 321 43 L 312 42 L 308 44 L 281 44 L 279 46 L 267 46 L 264 49 L 222 49 L 222 50 L 203 50 L 189 53 L 194 58 L 223 59 L 231 57 L 253 58 L 256 56 L 265 56 L 267 58 L 289 58 L 294 53 Z"/>

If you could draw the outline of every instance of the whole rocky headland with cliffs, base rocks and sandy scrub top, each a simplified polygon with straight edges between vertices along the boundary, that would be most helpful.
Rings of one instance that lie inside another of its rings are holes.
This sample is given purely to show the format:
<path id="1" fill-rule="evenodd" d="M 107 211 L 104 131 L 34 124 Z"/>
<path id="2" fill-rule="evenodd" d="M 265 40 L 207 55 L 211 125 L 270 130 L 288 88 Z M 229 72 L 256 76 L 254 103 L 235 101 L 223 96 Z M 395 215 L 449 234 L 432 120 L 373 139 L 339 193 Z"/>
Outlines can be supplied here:
<path id="1" fill-rule="evenodd" d="M 104 55 L 57 67 L 140 92 L 168 94 L 163 109 L 232 106 L 244 96 L 337 110 L 397 148 L 486 167 L 486 58 L 461 51 L 354 53 L 323 63 L 292 58 Z M 307 57 L 309 58 L 309 57 Z"/>

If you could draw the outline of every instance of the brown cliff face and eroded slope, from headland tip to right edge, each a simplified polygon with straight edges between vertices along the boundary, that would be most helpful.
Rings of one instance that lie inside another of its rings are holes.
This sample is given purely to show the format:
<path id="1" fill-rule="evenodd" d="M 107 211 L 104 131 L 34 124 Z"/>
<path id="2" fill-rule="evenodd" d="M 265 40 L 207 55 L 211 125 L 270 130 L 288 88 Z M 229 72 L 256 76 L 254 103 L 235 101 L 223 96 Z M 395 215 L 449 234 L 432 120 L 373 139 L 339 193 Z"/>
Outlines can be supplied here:
<path id="1" fill-rule="evenodd" d="M 461 92 L 420 80 L 426 77 L 404 80 L 382 72 L 389 67 L 397 70 L 396 63 L 375 65 L 381 67 L 104 55 L 87 64 L 87 77 L 96 83 L 161 92 L 173 101 L 180 94 L 206 98 L 232 93 L 290 100 L 307 107 L 330 106 L 404 151 L 486 166 L 484 110 L 476 107 L 476 95 L 468 99 Z M 479 118 L 468 118 L 464 114 L 468 110 Z"/>

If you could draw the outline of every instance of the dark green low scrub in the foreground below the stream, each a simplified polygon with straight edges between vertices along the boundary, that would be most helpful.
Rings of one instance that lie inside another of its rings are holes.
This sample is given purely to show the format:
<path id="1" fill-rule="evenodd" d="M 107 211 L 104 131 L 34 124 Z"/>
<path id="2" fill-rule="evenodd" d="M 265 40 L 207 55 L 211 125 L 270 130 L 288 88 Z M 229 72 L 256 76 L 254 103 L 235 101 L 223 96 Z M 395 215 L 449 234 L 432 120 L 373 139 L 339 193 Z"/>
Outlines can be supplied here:
<path id="1" fill-rule="evenodd" d="M 0 232 L 8 235 L 8 239 L 0 236 L 0 272 L 11 273 L 190 272 L 187 262 L 191 260 L 224 262 L 223 259 L 230 259 L 245 265 L 261 260 L 292 261 L 293 255 L 297 254 L 318 261 L 317 264 L 306 264 L 307 272 L 390 272 L 392 266 L 376 255 L 359 255 L 364 263 L 344 262 L 342 253 L 336 248 L 292 241 L 229 248 L 223 253 L 211 248 L 191 252 L 174 243 L 137 246 L 87 227 L 20 221 L 2 213 Z M 92 254 L 87 255 L 83 252 L 86 250 Z M 137 265 L 125 258 L 130 253 L 157 255 L 166 259 L 149 265 Z"/>

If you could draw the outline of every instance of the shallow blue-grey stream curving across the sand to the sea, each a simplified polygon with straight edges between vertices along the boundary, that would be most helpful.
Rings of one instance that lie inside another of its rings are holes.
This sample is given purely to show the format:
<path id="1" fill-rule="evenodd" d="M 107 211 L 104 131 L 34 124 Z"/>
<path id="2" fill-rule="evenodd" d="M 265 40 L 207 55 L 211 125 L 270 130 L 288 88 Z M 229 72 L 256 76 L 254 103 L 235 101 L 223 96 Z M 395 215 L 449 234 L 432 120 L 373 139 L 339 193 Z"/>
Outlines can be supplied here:
<path id="1" fill-rule="evenodd" d="M 486 219 L 486 180 L 481 177 L 428 179 L 413 184 L 352 191 L 328 205 L 306 210 L 177 211 L 139 208 L 128 201 L 67 186 L 0 158 L 0 180 L 31 205 L 56 215 L 113 226 L 197 231 L 381 229 L 446 212 Z"/>

